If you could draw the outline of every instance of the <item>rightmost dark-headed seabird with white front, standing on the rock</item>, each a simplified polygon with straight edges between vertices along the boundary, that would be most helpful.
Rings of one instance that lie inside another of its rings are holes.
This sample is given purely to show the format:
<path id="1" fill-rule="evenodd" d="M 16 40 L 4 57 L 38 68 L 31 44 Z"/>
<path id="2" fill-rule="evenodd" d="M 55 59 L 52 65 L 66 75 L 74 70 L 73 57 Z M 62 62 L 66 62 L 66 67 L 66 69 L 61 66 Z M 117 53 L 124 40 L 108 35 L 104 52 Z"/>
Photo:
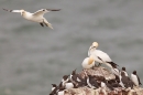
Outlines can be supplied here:
<path id="1" fill-rule="evenodd" d="M 131 80 L 135 86 L 139 87 L 139 85 L 142 85 L 142 83 L 140 82 L 140 77 L 136 74 L 136 71 L 133 71 L 133 73 L 131 74 Z"/>

